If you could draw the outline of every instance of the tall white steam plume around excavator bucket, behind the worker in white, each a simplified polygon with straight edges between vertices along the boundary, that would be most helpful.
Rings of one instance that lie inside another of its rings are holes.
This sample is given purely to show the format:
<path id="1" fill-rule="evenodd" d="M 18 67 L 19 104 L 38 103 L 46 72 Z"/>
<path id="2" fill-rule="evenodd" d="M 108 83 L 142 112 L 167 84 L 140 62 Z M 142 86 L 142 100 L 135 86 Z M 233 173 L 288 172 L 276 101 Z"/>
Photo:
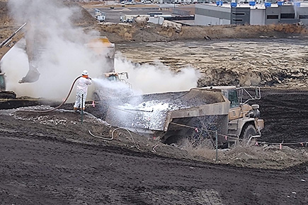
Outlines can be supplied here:
<path id="1" fill-rule="evenodd" d="M 102 66 L 105 58 L 95 57 L 96 54 L 85 46 L 97 33 L 84 33 L 70 21 L 80 18 L 80 8 L 68 8 L 57 0 L 11 0 L 8 5 L 17 23 L 28 23 L 25 38 L 33 43 L 31 46 L 43 49 L 38 55 L 40 79 L 35 83 L 18 84 L 18 80 L 28 72 L 28 57 L 24 49 L 14 47 L 8 52 L 2 62 L 6 90 L 13 90 L 18 96 L 63 99 L 84 69 L 91 77 L 105 72 Z"/>

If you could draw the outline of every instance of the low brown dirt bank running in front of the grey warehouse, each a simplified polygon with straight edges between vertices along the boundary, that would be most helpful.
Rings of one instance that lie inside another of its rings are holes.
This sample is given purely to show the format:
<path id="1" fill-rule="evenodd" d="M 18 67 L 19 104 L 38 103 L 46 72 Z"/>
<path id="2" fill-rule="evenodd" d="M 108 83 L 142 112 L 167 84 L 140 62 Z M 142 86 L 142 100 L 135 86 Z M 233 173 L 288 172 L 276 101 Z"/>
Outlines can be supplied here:
<path id="1" fill-rule="evenodd" d="M 215 40 L 259 37 L 306 36 L 308 30 L 302 25 L 213 25 L 186 26 L 180 32 L 175 28 L 147 23 L 146 25 L 101 24 L 96 29 L 112 42 L 164 42 L 175 40 Z"/>

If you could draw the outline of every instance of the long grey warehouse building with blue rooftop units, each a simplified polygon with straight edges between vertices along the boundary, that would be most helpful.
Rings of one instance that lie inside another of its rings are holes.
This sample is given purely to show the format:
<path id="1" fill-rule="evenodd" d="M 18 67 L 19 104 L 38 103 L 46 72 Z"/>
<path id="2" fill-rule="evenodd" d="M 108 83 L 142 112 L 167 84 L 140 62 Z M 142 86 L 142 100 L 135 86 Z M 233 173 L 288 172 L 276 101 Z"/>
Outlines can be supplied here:
<path id="1" fill-rule="evenodd" d="M 249 1 L 249 4 L 232 2 L 223 4 L 196 4 L 195 25 L 269 25 L 278 23 L 300 23 L 308 25 L 308 3 L 284 4 Z"/>

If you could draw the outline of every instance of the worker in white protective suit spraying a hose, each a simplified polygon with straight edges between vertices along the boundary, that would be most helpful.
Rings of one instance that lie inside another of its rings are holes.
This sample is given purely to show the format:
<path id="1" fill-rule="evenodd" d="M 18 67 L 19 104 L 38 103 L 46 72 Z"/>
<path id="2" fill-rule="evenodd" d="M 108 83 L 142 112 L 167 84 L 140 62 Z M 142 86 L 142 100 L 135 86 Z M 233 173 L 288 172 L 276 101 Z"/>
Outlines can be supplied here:
<path id="1" fill-rule="evenodd" d="M 84 70 L 81 73 L 81 77 L 76 81 L 76 101 L 74 105 L 74 112 L 77 112 L 79 107 L 84 110 L 86 102 L 86 94 L 88 93 L 88 86 L 91 85 L 92 81 L 89 77 L 88 71 Z"/>

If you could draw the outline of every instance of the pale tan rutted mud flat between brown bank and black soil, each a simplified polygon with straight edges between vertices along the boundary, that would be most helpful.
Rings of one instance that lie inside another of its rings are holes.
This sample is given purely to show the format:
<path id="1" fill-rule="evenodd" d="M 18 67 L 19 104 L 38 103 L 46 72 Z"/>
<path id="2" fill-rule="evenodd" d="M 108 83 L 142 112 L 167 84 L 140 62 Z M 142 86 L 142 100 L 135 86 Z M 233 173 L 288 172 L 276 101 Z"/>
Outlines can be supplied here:
<path id="1" fill-rule="evenodd" d="M 138 64 L 159 61 L 175 72 L 200 71 L 198 86 L 307 87 L 307 37 L 176 42 L 127 42 L 116 45 Z"/>

